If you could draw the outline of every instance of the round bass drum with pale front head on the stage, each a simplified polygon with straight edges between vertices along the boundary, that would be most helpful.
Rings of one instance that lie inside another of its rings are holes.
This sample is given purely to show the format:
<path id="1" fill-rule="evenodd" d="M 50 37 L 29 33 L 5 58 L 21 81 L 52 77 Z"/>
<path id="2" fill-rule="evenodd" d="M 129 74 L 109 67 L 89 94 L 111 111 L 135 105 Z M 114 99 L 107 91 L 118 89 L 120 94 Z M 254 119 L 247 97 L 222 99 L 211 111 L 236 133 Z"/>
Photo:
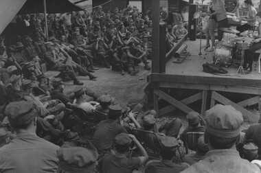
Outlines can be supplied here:
<path id="1" fill-rule="evenodd" d="M 232 52 L 232 47 L 217 43 L 214 47 L 212 63 L 223 67 L 230 66 L 232 62 Z"/>

